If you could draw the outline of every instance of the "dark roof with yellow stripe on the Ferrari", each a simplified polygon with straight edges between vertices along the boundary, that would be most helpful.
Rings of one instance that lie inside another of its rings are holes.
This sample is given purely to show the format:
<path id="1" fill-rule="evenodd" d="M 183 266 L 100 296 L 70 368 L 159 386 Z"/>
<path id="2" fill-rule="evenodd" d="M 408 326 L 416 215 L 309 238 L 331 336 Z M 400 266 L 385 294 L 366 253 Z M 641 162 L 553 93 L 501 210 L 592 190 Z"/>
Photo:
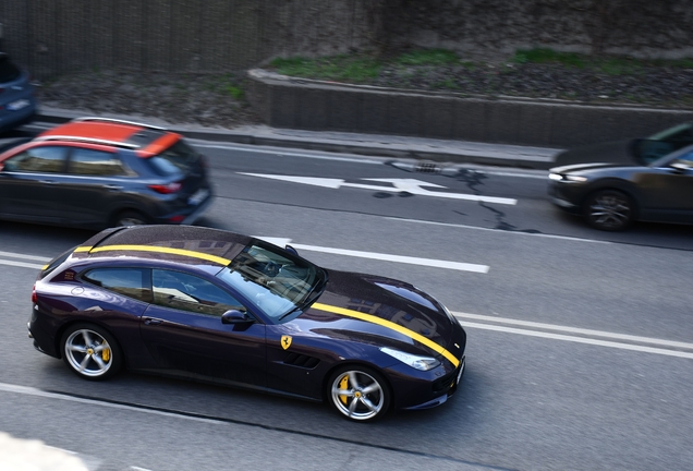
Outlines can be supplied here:
<path id="1" fill-rule="evenodd" d="M 77 246 L 73 256 L 134 257 L 223 267 L 253 241 L 247 235 L 197 226 L 131 226 L 97 233 Z"/>

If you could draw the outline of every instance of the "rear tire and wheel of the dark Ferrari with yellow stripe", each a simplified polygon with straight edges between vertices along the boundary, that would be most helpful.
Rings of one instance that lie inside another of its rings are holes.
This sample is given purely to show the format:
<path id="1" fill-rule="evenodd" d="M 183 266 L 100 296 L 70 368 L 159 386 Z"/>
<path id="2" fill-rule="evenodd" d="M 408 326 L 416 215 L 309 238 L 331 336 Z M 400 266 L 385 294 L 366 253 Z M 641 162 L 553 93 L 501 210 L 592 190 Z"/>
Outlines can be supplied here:
<path id="1" fill-rule="evenodd" d="M 84 379 L 108 379 L 122 365 L 123 357 L 115 339 L 93 324 L 69 327 L 62 335 L 60 351 L 70 370 Z"/>

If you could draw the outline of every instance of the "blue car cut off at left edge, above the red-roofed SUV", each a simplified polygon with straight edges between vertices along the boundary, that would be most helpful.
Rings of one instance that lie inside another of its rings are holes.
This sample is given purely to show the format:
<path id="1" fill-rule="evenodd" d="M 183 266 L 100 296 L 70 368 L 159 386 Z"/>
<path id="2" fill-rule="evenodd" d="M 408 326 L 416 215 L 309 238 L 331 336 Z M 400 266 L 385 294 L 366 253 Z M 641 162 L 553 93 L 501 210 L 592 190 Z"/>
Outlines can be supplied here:
<path id="1" fill-rule="evenodd" d="M 35 116 L 36 97 L 28 73 L 0 52 L 0 133 L 26 124 Z"/>

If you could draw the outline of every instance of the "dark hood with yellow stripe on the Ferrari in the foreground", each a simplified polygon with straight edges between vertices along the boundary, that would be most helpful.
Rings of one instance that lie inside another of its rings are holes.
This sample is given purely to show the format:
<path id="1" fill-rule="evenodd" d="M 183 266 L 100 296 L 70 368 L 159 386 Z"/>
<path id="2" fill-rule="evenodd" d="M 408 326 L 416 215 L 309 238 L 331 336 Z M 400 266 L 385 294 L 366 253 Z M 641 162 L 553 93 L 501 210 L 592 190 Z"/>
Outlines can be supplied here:
<path id="1" fill-rule="evenodd" d="M 429 294 L 410 283 L 373 275 L 327 270 L 325 291 L 297 322 L 320 336 L 414 354 L 431 355 L 430 345 L 447 348 L 459 327 L 457 319 Z"/>

